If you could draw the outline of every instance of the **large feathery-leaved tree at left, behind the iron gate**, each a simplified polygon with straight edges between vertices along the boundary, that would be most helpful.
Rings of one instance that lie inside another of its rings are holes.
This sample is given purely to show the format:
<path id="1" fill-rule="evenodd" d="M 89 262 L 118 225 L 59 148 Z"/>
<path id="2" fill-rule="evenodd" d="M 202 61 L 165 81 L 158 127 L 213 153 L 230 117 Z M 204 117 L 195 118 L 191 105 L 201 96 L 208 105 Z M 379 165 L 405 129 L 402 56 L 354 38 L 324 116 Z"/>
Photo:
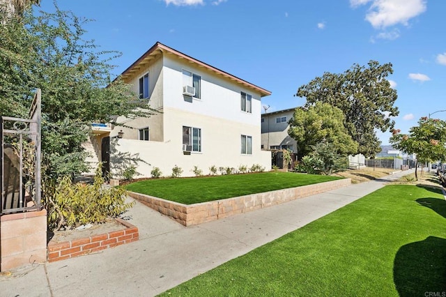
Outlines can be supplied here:
<path id="1" fill-rule="evenodd" d="M 56 6 L 56 4 L 55 4 Z M 84 40 L 88 22 L 70 12 L 40 12 L 3 21 L 0 15 L 0 114 L 26 116 L 35 88 L 42 90 L 42 151 L 47 178 L 86 171 L 93 121 L 112 115 L 148 116 L 151 109 L 121 79 L 110 83 L 118 52 Z M 107 87 L 105 87 L 107 86 Z"/>

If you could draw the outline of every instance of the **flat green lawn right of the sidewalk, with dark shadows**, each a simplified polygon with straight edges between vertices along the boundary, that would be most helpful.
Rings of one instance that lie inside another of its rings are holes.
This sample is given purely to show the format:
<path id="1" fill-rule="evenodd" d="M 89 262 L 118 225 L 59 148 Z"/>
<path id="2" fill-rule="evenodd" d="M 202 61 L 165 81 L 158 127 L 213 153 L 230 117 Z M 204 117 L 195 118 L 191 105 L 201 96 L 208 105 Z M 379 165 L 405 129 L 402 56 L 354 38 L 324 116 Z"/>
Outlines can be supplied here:
<path id="1" fill-rule="evenodd" d="M 427 296 L 429 291 L 446 292 L 446 201 L 429 188 L 388 185 L 163 295 Z"/>

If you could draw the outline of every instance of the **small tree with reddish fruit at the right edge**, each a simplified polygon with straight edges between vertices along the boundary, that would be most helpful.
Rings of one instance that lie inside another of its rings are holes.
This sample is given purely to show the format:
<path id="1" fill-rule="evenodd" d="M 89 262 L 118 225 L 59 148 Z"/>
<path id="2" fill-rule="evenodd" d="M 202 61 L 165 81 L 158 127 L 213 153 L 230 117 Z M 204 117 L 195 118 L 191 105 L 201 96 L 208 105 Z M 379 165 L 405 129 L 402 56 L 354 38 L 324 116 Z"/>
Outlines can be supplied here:
<path id="1" fill-rule="evenodd" d="M 429 162 L 445 160 L 446 157 L 446 121 L 422 117 L 418 125 L 410 128 L 409 134 L 400 134 L 392 130 L 390 143 L 394 148 L 417 155 L 415 178 L 418 180 L 418 161 Z"/>

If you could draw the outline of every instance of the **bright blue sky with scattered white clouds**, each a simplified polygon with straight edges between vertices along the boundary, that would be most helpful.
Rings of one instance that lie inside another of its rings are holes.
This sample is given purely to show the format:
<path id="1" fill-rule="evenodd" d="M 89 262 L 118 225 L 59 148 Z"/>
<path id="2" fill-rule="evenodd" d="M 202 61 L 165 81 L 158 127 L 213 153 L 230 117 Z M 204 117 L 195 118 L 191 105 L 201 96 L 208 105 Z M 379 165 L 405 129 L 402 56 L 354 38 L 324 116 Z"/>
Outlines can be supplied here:
<path id="1" fill-rule="evenodd" d="M 59 0 L 95 20 L 86 38 L 123 55 L 119 75 L 155 42 L 268 89 L 268 112 L 298 107 L 293 95 L 324 72 L 392 63 L 396 128 L 446 109 L 444 0 Z M 54 10 L 42 0 L 41 10 Z M 446 120 L 446 112 L 433 115 Z M 378 136 L 388 144 L 390 133 Z"/>

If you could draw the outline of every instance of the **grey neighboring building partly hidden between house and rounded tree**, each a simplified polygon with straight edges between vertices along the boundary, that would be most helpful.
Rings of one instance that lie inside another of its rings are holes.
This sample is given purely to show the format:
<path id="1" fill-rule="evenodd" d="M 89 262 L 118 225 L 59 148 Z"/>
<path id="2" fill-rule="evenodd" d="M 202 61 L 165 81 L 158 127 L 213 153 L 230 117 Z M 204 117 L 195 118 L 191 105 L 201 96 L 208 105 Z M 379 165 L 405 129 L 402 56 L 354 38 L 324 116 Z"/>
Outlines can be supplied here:
<path id="1" fill-rule="evenodd" d="M 297 107 L 295 107 L 297 108 Z M 288 135 L 289 120 L 293 117 L 295 108 L 268 112 L 261 115 L 263 150 L 287 148 L 297 153 L 296 141 Z"/>

